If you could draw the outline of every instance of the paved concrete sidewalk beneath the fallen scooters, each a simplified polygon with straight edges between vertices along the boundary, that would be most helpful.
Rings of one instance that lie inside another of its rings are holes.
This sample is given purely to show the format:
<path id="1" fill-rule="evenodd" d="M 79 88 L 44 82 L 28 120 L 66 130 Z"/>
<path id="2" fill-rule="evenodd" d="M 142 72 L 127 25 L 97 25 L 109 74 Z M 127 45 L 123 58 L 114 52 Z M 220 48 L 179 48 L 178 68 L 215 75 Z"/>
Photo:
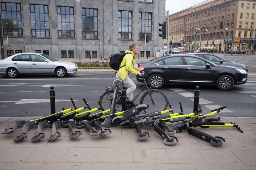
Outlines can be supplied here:
<path id="1" fill-rule="evenodd" d="M 0 130 L 17 119 L 30 120 L 32 117 L 0 118 Z M 46 137 L 31 142 L 36 128 L 28 132 L 23 141 L 14 142 L 19 129 L 14 133 L 0 134 L 0 169 L 256 169 L 256 118 L 221 117 L 224 122 L 234 122 L 244 131 L 235 127 L 196 128 L 212 136 L 223 137 L 226 142 L 219 147 L 189 135 L 186 130 L 177 133 L 178 143 L 172 146 L 164 144 L 152 127 L 142 126 L 151 137 L 137 140 L 134 128 L 113 126 L 111 134 L 92 137 L 85 129 L 79 129 L 83 135 L 69 139 L 68 128 L 58 128 L 62 136 L 49 142 L 51 128 L 43 132 Z M 172 128 L 172 123 L 166 125 Z M 104 123 L 102 124 L 103 127 Z M 74 128 L 74 130 L 77 130 Z"/>

